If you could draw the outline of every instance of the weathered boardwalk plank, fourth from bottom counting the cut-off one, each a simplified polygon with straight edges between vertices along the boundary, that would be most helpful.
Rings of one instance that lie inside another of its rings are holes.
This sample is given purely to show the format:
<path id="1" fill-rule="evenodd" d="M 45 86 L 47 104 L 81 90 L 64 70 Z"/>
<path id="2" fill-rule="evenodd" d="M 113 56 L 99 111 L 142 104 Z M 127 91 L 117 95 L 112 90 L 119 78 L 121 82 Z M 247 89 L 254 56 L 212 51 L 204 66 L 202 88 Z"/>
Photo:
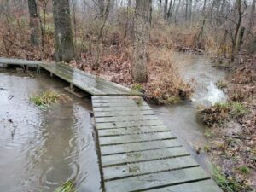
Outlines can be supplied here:
<path id="1" fill-rule="evenodd" d="M 185 155 L 189 155 L 189 153 L 183 147 L 158 148 L 147 151 L 131 152 L 126 154 L 110 154 L 102 156 L 102 166 L 116 166 L 127 163 L 137 163 L 148 160 L 160 160 Z"/>

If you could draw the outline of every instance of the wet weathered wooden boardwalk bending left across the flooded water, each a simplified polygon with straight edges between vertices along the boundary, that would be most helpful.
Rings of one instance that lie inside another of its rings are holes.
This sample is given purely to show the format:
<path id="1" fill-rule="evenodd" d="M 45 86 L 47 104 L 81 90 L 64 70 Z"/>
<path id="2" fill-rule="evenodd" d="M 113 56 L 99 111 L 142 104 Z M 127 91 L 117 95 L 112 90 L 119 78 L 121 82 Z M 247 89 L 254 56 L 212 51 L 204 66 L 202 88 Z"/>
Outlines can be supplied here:
<path id="1" fill-rule="evenodd" d="M 142 94 L 61 63 L 0 58 L 38 65 L 91 95 L 106 192 L 221 192 Z"/>

